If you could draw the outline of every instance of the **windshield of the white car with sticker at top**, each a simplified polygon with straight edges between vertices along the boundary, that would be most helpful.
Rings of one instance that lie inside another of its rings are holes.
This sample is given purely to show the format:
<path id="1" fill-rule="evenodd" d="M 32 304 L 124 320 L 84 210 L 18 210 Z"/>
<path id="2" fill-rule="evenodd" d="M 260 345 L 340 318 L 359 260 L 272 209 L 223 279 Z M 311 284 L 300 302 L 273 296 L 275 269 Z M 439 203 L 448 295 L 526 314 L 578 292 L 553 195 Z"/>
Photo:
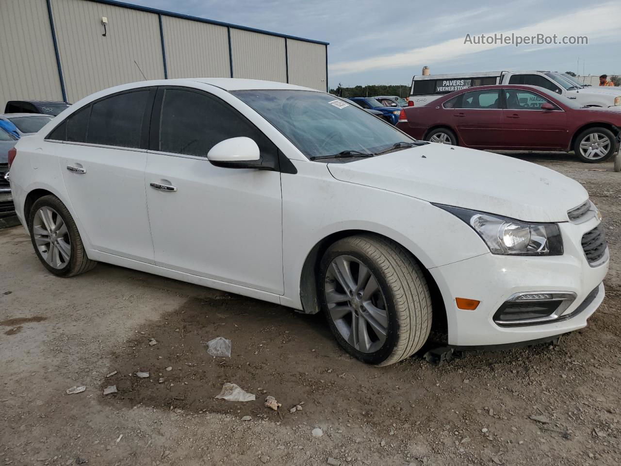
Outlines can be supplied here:
<path id="1" fill-rule="evenodd" d="M 358 106 L 315 91 L 232 91 L 265 117 L 306 157 L 355 150 L 376 153 L 413 139 Z M 356 160 L 356 159 L 351 159 Z"/>

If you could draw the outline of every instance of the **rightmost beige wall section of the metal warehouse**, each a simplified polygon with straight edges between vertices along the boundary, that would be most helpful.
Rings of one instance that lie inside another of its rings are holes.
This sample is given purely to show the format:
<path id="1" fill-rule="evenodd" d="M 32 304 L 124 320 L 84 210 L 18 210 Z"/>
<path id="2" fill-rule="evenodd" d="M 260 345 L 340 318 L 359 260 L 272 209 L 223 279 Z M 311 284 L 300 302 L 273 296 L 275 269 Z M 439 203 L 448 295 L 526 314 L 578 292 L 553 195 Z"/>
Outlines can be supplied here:
<path id="1" fill-rule="evenodd" d="M 325 45 L 287 39 L 289 83 L 307 88 L 326 89 Z"/>

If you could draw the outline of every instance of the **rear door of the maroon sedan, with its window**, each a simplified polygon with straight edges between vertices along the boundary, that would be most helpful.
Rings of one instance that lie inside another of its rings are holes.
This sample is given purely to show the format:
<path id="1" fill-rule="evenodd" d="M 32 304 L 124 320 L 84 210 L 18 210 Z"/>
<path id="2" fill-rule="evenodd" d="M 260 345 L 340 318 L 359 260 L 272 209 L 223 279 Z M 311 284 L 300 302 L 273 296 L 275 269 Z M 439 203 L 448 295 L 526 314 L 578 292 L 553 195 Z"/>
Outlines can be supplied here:
<path id="1" fill-rule="evenodd" d="M 462 144 L 469 147 L 502 145 L 500 93 L 498 88 L 470 91 L 456 100 L 452 121 Z"/>

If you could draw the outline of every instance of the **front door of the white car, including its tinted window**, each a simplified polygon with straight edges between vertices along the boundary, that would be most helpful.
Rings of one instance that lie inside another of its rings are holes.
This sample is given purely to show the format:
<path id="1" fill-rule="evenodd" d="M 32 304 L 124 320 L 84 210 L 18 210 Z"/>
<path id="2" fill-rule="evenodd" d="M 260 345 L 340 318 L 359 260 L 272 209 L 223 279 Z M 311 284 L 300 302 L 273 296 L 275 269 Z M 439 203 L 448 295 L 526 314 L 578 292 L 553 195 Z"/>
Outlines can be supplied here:
<path id="1" fill-rule="evenodd" d="M 280 173 L 207 160 L 230 137 L 252 138 L 263 158 L 278 157 L 274 144 L 229 104 L 196 89 L 160 89 L 152 122 L 145 190 L 156 264 L 283 294 Z"/>

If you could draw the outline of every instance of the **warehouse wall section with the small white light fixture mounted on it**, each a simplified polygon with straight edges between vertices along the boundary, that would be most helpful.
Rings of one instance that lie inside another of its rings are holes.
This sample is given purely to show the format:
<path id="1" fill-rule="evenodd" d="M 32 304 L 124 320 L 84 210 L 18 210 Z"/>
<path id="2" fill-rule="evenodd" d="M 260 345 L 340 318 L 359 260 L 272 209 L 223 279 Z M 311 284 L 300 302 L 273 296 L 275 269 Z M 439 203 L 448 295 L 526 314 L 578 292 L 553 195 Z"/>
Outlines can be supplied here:
<path id="1" fill-rule="evenodd" d="M 142 73 L 147 79 L 164 78 L 158 15 L 76 0 L 52 0 L 52 12 L 70 102 L 142 81 Z M 108 19 L 106 37 L 102 16 Z"/>

